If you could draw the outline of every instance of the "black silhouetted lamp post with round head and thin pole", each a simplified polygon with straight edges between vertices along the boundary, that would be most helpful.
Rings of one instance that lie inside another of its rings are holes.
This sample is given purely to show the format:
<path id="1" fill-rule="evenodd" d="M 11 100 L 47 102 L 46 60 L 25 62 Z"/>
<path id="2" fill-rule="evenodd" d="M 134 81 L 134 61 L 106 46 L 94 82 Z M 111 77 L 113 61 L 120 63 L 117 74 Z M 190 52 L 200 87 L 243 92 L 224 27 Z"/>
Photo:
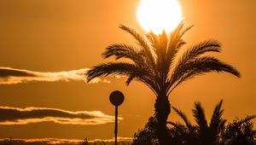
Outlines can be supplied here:
<path id="1" fill-rule="evenodd" d="M 114 90 L 110 96 L 109 101 L 115 107 L 115 121 L 114 121 L 114 145 L 117 145 L 117 132 L 118 132 L 118 107 L 125 100 L 125 96 L 119 90 Z"/>

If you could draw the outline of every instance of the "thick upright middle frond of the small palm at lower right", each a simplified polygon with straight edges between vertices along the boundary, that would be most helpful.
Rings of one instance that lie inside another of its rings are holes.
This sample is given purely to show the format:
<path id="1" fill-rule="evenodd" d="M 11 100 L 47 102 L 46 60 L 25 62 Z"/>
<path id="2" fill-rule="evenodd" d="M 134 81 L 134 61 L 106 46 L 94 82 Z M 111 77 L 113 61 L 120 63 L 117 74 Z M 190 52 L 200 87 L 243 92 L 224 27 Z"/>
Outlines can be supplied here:
<path id="1" fill-rule="evenodd" d="M 195 122 L 201 131 L 208 129 L 207 118 L 204 108 L 201 106 L 201 102 L 195 102 L 195 108 L 192 109 L 193 115 L 195 117 Z"/>

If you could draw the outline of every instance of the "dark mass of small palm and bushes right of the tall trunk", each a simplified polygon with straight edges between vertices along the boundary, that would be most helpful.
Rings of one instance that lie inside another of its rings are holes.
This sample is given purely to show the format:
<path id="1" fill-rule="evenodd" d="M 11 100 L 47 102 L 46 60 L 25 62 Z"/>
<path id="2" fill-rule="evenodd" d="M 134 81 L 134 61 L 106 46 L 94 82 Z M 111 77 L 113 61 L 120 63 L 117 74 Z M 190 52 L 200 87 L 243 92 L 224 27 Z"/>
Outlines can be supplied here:
<path id="1" fill-rule="evenodd" d="M 220 101 L 212 113 L 210 122 L 204 108 L 200 102 L 195 102 L 195 108 L 192 109 L 195 118 L 195 125 L 192 125 L 188 117 L 181 110 L 172 107 L 184 122 L 173 123 L 170 129 L 173 145 L 253 145 L 256 143 L 256 131 L 253 130 L 251 119 L 253 116 L 247 116 L 245 119 L 235 119 L 233 123 L 225 125 L 226 119 L 222 118 L 224 109 L 223 101 Z"/>

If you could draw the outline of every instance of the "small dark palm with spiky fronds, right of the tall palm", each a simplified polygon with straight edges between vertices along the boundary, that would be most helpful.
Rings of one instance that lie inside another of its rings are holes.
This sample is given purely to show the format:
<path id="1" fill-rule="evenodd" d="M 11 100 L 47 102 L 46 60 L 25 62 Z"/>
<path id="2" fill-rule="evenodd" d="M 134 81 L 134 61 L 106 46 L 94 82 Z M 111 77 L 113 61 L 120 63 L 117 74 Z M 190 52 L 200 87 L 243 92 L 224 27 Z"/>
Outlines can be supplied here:
<path id="1" fill-rule="evenodd" d="M 195 102 L 195 108 L 192 109 L 196 125 L 192 125 L 185 113 L 183 113 L 181 110 L 178 110 L 176 107 L 172 108 L 177 113 L 177 115 L 183 119 L 185 128 L 183 128 L 183 125 L 178 123 L 168 123 L 179 129 L 178 131 L 181 131 L 183 136 L 192 135 L 192 137 L 187 138 L 187 140 L 191 138 L 193 140 L 189 140 L 188 142 L 196 142 L 196 144 L 201 145 L 217 145 L 220 138 L 219 136 L 221 132 L 224 131 L 224 124 L 226 123 L 226 119 L 222 119 L 222 115 L 224 113 L 224 109 L 221 108 L 222 103 L 223 101 L 220 101 L 214 108 L 212 119 L 209 124 L 207 123 L 207 117 L 204 108 L 201 106 L 201 102 Z"/>

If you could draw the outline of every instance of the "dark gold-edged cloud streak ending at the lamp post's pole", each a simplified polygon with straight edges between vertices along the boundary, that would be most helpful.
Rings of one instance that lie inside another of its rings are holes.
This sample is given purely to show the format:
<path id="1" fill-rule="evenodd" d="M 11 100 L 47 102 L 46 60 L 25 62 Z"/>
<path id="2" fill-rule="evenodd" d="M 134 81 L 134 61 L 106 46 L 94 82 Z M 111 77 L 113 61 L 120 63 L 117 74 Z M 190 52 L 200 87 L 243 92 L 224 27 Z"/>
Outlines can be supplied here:
<path id="1" fill-rule="evenodd" d="M 102 125 L 114 122 L 114 117 L 100 111 L 73 112 L 48 107 L 0 107 L 0 125 L 26 125 L 40 122 L 54 122 L 61 125 Z"/>

